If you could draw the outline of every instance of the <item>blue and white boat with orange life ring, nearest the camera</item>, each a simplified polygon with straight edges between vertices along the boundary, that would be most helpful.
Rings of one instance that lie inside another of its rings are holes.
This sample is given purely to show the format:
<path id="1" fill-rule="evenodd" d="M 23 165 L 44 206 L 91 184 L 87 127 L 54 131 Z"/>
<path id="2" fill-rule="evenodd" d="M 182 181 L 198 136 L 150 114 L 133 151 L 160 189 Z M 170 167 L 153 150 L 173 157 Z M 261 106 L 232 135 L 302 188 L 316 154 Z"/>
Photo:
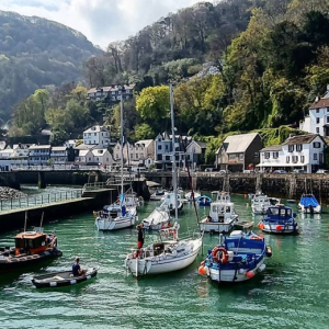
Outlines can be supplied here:
<path id="1" fill-rule="evenodd" d="M 272 251 L 263 238 L 251 231 L 234 230 L 223 245 L 208 251 L 198 273 L 218 283 L 247 281 L 264 271 L 265 256 L 271 257 Z"/>

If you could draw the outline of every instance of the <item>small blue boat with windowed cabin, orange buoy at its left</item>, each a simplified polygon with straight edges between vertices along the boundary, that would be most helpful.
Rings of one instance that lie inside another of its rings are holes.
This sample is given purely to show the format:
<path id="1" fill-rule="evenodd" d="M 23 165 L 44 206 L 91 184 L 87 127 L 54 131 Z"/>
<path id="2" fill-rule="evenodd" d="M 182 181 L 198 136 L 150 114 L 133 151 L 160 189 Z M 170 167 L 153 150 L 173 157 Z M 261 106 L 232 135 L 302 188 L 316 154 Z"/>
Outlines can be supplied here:
<path id="1" fill-rule="evenodd" d="M 258 224 L 258 227 L 270 234 L 297 234 L 298 224 L 295 217 L 296 214 L 291 207 L 277 204 L 269 207 L 265 217 Z"/>

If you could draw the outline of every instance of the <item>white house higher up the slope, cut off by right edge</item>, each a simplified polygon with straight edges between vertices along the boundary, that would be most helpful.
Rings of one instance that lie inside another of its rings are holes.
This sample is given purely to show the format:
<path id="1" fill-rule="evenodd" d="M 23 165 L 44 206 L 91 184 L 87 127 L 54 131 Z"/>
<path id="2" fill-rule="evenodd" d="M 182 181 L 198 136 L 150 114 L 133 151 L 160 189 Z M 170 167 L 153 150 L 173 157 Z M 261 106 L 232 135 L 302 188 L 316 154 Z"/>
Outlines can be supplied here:
<path id="1" fill-rule="evenodd" d="M 316 98 L 309 106 L 309 114 L 299 123 L 299 129 L 321 136 L 329 136 L 329 86 L 324 98 Z"/>

